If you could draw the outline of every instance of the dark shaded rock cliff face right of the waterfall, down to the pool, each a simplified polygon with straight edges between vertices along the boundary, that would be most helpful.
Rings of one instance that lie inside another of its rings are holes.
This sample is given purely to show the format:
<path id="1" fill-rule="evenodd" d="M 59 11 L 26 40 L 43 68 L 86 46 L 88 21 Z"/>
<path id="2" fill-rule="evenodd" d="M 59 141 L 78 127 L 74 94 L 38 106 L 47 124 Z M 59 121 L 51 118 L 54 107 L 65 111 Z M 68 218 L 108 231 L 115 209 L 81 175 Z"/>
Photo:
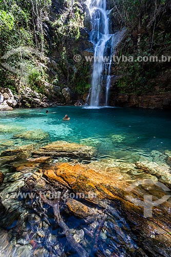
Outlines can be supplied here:
<path id="1" fill-rule="evenodd" d="M 111 13 L 112 30 L 116 27 L 127 27 L 122 42 L 117 47 L 116 56 L 133 57 L 134 62 L 113 63 L 113 75 L 110 87 L 110 105 L 142 108 L 170 108 L 171 66 L 170 61 L 161 61 L 162 55 L 170 56 L 170 1 L 147 1 L 139 9 L 129 6 L 130 10 L 139 10 L 139 14 L 129 16 L 129 9 L 119 5 L 117 1 Z M 131 3 L 131 1 L 130 1 Z M 109 6 L 112 6 L 109 1 Z M 128 16 L 128 20 L 123 13 Z M 132 11 L 133 13 L 133 11 Z M 125 21 L 122 19 L 125 17 Z M 159 61 L 138 62 L 137 57 L 155 56 Z"/>

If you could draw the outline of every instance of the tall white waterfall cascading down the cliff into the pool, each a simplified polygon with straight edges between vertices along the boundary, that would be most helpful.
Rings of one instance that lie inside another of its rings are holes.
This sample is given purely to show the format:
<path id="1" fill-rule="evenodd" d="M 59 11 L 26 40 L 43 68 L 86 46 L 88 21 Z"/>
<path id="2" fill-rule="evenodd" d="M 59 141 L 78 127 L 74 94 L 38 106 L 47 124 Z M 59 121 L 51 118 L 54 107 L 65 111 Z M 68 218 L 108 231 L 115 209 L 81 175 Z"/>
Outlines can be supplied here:
<path id="1" fill-rule="evenodd" d="M 113 34 L 109 34 L 109 18 L 106 10 L 106 0 L 87 0 L 91 15 L 92 30 L 90 41 L 94 45 L 94 62 L 91 81 L 90 106 L 99 106 L 99 97 L 105 69 L 106 77 L 106 106 L 108 105 L 110 87 L 110 68 L 112 62 Z M 109 56 L 107 57 L 107 54 Z"/>

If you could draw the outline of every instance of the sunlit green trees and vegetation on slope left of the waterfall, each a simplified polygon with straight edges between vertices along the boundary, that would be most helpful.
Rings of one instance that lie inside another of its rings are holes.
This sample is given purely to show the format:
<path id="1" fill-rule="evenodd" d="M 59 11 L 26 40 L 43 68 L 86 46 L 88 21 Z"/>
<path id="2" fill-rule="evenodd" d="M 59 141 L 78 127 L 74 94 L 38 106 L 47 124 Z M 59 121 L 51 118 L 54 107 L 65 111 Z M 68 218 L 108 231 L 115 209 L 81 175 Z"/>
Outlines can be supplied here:
<path id="1" fill-rule="evenodd" d="M 0 83 L 14 93 L 22 83 L 44 94 L 44 81 L 86 91 L 88 66 L 82 69 L 83 63 L 73 61 L 84 29 L 83 13 L 79 1 L 59 0 L 53 6 L 51 0 L 1 0 L 0 57 L 13 70 L 0 66 Z"/>

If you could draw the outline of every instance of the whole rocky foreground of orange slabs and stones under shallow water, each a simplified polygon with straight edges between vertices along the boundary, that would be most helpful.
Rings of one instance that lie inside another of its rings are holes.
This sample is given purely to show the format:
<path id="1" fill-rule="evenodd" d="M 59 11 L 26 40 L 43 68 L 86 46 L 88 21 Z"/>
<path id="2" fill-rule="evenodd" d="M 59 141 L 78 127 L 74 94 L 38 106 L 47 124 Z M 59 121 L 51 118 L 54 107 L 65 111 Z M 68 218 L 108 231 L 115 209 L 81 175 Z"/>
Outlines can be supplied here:
<path id="1" fill-rule="evenodd" d="M 138 204 L 145 193 L 157 200 L 163 191 L 146 183 L 126 191 L 142 179 L 169 186 L 169 158 L 166 152 L 165 166 L 117 165 L 97 159 L 92 146 L 66 141 L 3 151 L 1 256 L 169 257 L 169 201 L 148 218 Z"/>

